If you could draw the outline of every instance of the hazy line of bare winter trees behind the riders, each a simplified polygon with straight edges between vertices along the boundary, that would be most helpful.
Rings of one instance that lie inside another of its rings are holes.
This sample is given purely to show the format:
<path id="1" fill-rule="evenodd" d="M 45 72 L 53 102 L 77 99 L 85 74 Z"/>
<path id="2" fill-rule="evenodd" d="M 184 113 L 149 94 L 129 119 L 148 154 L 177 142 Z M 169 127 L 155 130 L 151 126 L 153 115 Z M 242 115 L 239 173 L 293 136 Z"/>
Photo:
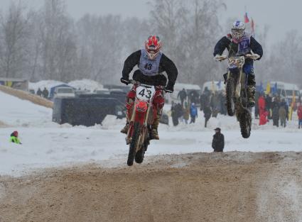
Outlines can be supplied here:
<path id="1" fill-rule="evenodd" d="M 38 10 L 13 1 L 0 15 L 0 77 L 117 82 L 126 56 L 156 33 L 163 40 L 163 52 L 178 67 L 178 82 L 221 79 L 226 65 L 214 62 L 212 50 L 225 35 L 218 21 L 225 7 L 220 0 L 154 0 L 147 19 L 86 14 L 76 21 L 63 0 L 45 0 Z M 293 81 L 301 79 L 296 74 L 301 62 L 293 57 L 301 52 L 300 37 L 291 33 L 288 38 L 296 45 L 286 39 L 278 53 L 259 62 L 261 78 L 287 80 L 290 74 Z"/>

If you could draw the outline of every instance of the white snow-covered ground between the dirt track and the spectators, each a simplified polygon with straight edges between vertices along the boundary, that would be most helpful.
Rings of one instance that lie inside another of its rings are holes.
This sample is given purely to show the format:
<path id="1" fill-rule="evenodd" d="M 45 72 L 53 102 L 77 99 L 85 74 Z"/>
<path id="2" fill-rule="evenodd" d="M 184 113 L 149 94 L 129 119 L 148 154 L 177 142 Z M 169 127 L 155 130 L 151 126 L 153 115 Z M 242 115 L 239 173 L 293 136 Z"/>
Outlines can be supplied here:
<path id="1" fill-rule="evenodd" d="M 124 120 L 107 116 L 102 126 L 58 125 L 51 122 L 52 110 L 31 104 L 0 92 L 0 174 L 19 175 L 43 167 L 71 165 L 74 163 L 106 161 L 107 165 L 125 164 L 128 147 L 119 130 Z M 169 109 L 169 106 L 166 106 Z M 204 118 L 199 113 L 197 123 L 180 126 L 159 126 L 161 140 L 152 141 L 146 153 L 150 155 L 212 152 L 213 129 L 219 126 L 225 135 L 225 151 L 301 151 L 296 121 L 287 128 L 257 126 L 254 121 L 252 135 L 243 139 L 235 118 L 211 118 L 204 128 Z M 9 143 L 9 135 L 17 130 L 22 145 Z"/>

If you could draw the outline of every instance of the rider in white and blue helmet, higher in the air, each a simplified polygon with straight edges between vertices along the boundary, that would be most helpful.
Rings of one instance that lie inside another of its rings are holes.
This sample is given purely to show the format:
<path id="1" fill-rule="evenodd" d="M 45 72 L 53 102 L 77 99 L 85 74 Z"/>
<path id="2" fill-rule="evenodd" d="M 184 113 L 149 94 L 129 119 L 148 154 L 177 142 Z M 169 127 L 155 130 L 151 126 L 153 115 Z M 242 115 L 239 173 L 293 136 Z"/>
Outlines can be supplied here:
<path id="1" fill-rule="evenodd" d="M 247 94 L 249 97 L 249 106 L 255 105 L 255 75 L 254 75 L 254 60 L 260 60 L 263 55 L 262 46 L 255 40 L 252 35 L 245 32 L 245 25 L 241 21 L 235 21 L 231 33 L 222 37 L 215 45 L 214 57 L 215 60 L 223 59 L 222 52 L 227 48 L 229 56 L 245 55 L 243 72 L 248 74 L 247 79 Z M 254 54 L 252 54 L 252 52 Z M 224 75 L 225 80 L 227 78 Z"/>

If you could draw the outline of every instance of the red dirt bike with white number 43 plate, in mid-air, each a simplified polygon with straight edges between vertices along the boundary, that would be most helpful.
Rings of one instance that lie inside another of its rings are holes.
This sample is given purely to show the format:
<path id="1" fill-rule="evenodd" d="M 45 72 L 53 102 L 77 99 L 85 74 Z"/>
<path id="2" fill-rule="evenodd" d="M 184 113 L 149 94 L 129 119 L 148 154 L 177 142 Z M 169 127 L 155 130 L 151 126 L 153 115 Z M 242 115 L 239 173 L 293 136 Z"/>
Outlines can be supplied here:
<path id="1" fill-rule="evenodd" d="M 127 160 L 127 165 L 129 166 L 133 165 L 134 160 L 137 163 L 141 163 L 144 160 L 145 152 L 152 139 L 151 126 L 154 118 L 156 118 L 153 97 L 157 90 L 163 91 L 161 86 L 154 87 L 134 80 L 130 80 L 130 83 L 136 87 L 136 96 L 126 136 L 126 144 L 129 144 Z"/>

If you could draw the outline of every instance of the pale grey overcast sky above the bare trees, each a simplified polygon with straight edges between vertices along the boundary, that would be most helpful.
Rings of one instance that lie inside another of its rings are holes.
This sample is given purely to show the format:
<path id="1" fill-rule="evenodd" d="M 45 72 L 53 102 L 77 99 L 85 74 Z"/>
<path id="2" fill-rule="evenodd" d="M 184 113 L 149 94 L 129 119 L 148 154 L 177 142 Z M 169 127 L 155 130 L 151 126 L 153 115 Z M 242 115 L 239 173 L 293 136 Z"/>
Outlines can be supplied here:
<path id="1" fill-rule="evenodd" d="M 13 0 L 0 0 L 2 11 L 7 9 Z M 28 6 L 38 8 L 43 0 L 23 0 Z M 152 0 L 149 0 L 152 1 Z M 190 0 L 188 0 L 190 1 Z M 297 29 L 302 35 L 302 0 L 222 0 L 227 9 L 221 11 L 220 20 L 225 24 L 227 18 L 242 18 L 244 8 L 249 16 L 254 18 L 257 28 L 269 25 L 269 43 L 276 43 L 284 34 Z M 122 14 L 122 16 L 149 16 L 147 0 L 66 0 L 68 13 L 74 18 L 80 18 L 85 13 Z"/>

